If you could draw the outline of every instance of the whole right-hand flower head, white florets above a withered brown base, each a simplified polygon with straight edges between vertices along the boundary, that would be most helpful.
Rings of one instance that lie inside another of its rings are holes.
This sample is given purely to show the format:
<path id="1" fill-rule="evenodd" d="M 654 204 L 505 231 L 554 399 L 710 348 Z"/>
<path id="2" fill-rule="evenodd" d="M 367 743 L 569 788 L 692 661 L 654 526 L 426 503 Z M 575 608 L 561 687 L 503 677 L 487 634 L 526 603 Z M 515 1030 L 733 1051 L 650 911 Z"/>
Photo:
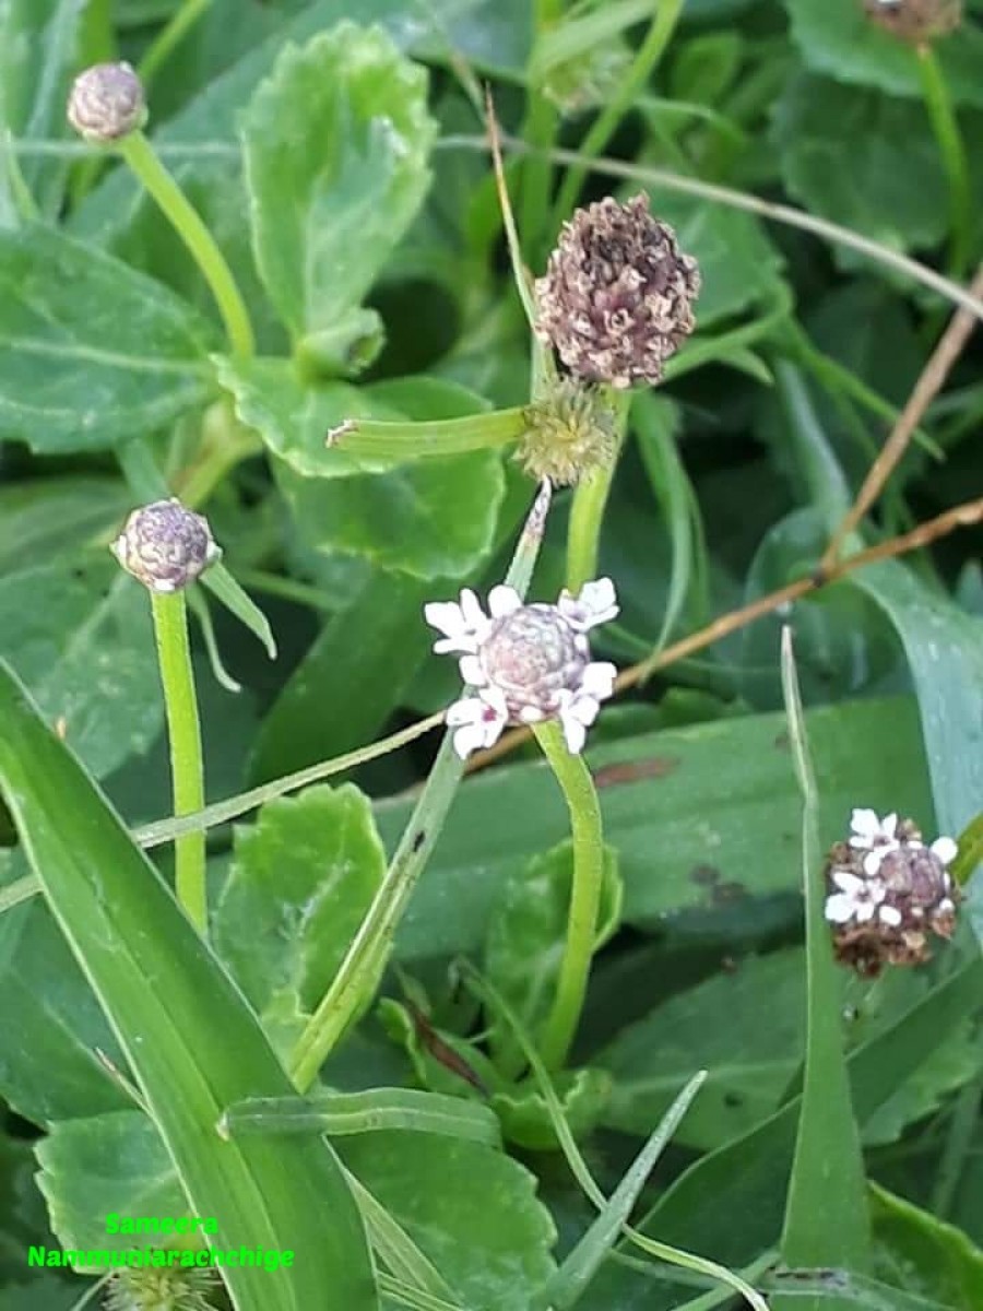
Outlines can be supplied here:
<path id="1" fill-rule="evenodd" d="M 838 958 L 861 974 L 921 964 L 931 954 L 928 935 L 949 937 L 955 924 L 959 894 L 946 868 L 955 843 L 936 838 L 927 847 L 911 819 L 878 819 L 866 809 L 853 812 L 851 829 L 826 865 L 824 910 Z"/>

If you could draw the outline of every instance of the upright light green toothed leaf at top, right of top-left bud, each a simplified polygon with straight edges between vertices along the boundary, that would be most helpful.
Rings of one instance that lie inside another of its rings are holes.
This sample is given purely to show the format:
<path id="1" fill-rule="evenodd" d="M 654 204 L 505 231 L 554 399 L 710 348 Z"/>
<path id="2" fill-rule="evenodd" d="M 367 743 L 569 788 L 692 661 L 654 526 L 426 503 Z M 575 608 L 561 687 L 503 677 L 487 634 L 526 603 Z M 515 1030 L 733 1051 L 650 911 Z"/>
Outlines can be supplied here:
<path id="1" fill-rule="evenodd" d="M 292 337 L 364 299 L 426 193 L 423 68 L 381 29 L 288 46 L 242 115 L 257 266 Z"/>

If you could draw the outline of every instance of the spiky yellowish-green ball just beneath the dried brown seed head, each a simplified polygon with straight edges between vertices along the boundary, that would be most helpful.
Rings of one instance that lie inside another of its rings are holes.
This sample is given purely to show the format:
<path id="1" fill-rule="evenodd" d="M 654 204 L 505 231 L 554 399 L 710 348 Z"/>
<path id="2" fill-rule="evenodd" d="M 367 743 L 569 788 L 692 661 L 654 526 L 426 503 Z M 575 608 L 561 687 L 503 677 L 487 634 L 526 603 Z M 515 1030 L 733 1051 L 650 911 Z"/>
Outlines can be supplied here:
<path id="1" fill-rule="evenodd" d="M 537 481 L 569 486 L 615 458 L 616 416 L 598 387 L 561 378 L 547 397 L 526 408 L 526 421 L 515 458 Z"/>

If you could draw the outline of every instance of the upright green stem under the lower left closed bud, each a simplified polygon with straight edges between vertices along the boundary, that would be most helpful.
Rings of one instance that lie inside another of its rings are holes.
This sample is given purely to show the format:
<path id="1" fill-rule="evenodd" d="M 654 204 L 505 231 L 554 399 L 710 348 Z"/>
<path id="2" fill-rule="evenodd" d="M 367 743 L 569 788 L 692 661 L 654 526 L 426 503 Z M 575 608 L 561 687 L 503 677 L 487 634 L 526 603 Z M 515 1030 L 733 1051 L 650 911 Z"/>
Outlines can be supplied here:
<path id="1" fill-rule="evenodd" d="M 174 814 L 185 815 L 204 806 L 202 732 L 187 641 L 187 610 L 182 591 L 155 591 L 151 600 L 168 717 Z M 203 832 L 189 832 L 176 839 L 174 869 L 177 899 L 199 933 L 204 935 L 208 928 L 208 898 Z"/>

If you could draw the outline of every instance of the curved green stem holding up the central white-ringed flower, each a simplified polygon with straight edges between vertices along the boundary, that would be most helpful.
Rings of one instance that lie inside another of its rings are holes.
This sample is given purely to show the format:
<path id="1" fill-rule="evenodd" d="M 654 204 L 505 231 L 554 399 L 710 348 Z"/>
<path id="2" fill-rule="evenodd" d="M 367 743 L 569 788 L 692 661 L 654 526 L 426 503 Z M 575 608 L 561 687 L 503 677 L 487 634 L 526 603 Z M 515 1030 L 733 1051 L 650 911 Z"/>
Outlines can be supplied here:
<path id="1" fill-rule="evenodd" d="M 536 741 L 562 788 L 574 847 L 573 891 L 566 920 L 566 945 L 560 965 L 556 996 L 543 1027 L 540 1044 L 548 1070 L 566 1061 L 587 992 L 587 975 L 598 928 L 598 909 L 604 877 L 604 840 L 600 804 L 590 770 L 581 755 L 568 751 L 556 722 L 533 726 Z"/>

